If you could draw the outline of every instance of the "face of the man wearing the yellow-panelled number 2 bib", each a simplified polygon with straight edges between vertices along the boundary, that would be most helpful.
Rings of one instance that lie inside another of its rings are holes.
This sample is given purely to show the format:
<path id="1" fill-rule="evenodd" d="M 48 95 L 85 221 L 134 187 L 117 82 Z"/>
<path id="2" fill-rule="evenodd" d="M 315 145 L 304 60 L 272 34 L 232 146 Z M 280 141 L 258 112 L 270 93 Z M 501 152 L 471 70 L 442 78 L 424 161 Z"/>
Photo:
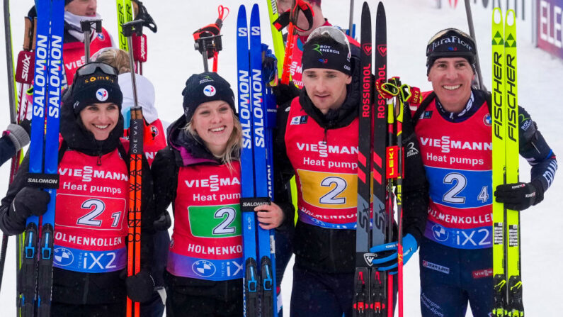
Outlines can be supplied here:
<path id="1" fill-rule="evenodd" d="M 323 114 L 339 109 L 346 100 L 346 85 L 352 77 L 334 69 L 309 68 L 303 72 L 307 96 Z"/>

